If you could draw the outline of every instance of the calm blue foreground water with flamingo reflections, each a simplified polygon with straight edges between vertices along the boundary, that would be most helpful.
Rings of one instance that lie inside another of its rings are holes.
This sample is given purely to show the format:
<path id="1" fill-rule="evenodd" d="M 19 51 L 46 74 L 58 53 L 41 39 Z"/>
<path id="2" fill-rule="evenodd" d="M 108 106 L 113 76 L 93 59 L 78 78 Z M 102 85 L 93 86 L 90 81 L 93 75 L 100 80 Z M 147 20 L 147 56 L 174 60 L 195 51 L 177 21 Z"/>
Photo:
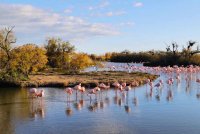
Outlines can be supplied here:
<path id="1" fill-rule="evenodd" d="M 146 85 L 126 95 L 110 89 L 91 100 L 74 92 L 70 102 L 63 88 L 43 88 L 43 99 L 30 99 L 28 89 L 0 89 L 0 133 L 199 134 L 197 76 L 191 74 L 186 83 L 182 74 L 180 83 L 152 92 Z M 161 74 L 154 83 L 167 78 Z"/>

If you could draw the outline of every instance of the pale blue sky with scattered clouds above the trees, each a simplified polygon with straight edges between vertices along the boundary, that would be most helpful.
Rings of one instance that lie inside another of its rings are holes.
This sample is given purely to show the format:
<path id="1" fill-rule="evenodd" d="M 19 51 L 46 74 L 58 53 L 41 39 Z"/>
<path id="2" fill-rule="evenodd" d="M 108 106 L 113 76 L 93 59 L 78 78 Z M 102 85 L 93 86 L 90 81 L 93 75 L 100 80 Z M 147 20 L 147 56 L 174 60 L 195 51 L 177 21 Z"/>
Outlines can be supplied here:
<path id="1" fill-rule="evenodd" d="M 15 26 L 16 45 L 49 37 L 78 52 L 165 50 L 200 41 L 199 0 L 0 0 L 0 29 Z"/>

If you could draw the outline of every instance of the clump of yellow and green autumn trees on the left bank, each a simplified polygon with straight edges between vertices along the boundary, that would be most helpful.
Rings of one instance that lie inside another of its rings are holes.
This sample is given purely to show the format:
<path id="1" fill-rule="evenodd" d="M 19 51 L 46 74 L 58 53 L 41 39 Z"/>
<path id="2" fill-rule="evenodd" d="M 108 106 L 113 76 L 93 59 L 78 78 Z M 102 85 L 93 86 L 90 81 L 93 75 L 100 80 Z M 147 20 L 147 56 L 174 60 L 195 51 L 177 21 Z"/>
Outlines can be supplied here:
<path id="1" fill-rule="evenodd" d="M 24 44 L 14 47 L 12 28 L 0 31 L 0 80 L 26 80 L 38 71 L 76 73 L 94 64 L 85 53 L 77 53 L 70 42 L 49 38 L 44 46 Z"/>

